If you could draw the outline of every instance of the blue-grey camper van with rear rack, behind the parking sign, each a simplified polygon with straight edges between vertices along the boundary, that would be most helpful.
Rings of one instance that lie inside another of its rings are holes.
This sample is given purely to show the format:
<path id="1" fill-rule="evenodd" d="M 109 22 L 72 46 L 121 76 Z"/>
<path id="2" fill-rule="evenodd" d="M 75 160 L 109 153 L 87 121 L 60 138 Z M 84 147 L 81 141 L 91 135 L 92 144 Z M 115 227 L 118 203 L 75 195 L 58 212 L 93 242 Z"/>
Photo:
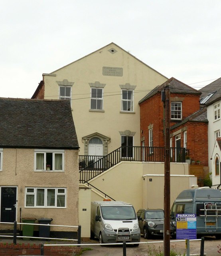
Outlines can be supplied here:
<path id="1" fill-rule="evenodd" d="M 176 224 L 176 214 L 196 214 L 198 236 L 215 236 L 221 239 L 221 191 L 209 187 L 182 191 L 170 210 Z"/>

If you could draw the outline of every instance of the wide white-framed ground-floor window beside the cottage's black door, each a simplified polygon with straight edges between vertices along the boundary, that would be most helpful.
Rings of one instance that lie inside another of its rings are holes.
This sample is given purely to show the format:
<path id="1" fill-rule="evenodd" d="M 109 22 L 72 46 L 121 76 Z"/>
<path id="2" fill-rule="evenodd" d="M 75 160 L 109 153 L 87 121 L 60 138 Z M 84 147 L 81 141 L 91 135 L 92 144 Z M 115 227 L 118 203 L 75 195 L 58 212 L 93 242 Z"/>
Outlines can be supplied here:
<path id="1" fill-rule="evenodd" d="M 65 208 L 66 188 L 26 188 L 25 207 Z"/>

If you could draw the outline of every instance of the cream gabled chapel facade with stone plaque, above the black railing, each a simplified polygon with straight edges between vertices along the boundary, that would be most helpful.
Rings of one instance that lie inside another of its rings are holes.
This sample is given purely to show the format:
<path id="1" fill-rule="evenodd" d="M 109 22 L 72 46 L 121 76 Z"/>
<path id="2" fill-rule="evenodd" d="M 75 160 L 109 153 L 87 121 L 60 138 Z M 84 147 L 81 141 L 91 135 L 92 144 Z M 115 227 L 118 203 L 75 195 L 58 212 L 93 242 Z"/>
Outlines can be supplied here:
<path id="1" fill-rule="evenodd" d="M 49 74 L 32 98 L 69 99 L 79 155 L 140 146 L 138 101 L 167 78 L 114 43 Z"/>

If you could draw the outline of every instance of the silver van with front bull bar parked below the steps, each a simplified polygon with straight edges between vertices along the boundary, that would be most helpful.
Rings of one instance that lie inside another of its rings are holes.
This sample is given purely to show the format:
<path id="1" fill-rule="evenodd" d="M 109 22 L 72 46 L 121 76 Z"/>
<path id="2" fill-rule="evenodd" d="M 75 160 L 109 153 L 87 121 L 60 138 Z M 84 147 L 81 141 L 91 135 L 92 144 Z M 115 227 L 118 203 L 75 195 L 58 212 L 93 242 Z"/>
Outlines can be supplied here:
<path id="1" fill-rule="evenodd" d="M 100 240 L 100 244 L 140 242 L 140 228 L 132 204 L 121 201 L 91 202 L 91 238 L 94 237 Z"/>

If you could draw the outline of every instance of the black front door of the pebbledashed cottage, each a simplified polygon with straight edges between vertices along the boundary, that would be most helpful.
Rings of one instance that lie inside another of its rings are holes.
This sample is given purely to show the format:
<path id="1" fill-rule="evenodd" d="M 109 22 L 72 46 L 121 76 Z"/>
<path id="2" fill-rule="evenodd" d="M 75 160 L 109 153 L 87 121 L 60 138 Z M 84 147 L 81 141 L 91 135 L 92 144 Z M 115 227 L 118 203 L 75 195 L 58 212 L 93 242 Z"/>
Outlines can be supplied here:
<path id="1" fill-rule="evenodd" d="M 16 193 L 17 188 L 2 187 L 1 222 L 14 222 L 16 220 Z"/>

